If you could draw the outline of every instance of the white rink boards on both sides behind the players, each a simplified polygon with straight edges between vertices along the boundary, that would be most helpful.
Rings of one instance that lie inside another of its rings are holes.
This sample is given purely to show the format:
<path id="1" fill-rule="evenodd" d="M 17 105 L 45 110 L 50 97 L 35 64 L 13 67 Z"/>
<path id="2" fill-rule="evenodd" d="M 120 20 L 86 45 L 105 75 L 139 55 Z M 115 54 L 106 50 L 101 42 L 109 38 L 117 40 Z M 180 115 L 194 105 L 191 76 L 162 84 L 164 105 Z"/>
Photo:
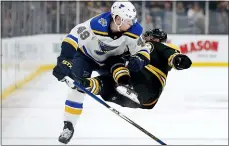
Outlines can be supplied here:
<path id="1" fill-rule="evenodd" d="M 46 34 L 2 39 L 4 79 L 2 89 L 23 80 L 42 65 L 54 65 L 60 54 L 60 44 L 65 36 L 66 34 Z M 169 42 L 183 48 L 187 46 L 186 54 L 194 63 L 228 62 L 228 36 L 168 36 Z M 192 46 L 195 48 L 194 51 Z"/>

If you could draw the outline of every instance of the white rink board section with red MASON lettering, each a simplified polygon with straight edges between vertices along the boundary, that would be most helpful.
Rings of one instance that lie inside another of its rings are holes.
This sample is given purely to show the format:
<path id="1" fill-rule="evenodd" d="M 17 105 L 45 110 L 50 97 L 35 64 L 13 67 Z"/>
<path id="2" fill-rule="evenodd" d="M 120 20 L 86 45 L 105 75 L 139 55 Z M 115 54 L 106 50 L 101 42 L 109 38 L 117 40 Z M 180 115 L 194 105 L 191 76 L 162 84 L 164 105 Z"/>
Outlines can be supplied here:
<path id="1" fill-rule="evenodd" d="M 168 35 L 193 62 L 228 62 L 228 35 Z"/>

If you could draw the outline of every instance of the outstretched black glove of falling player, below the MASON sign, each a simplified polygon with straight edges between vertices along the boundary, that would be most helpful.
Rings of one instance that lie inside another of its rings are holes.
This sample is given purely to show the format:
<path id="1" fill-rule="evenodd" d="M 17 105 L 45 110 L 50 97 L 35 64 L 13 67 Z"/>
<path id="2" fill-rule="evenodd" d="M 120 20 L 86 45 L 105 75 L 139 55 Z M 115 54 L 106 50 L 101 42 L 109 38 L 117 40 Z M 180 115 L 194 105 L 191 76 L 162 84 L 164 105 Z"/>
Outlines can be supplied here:
<path id="1" fill-rule="evenodd" d="M 178 54 L 173 58 L 172 64 L 177 70 L 182 70 L 189 68 L 192 65 L 192 61 L 188 56 Z"/>

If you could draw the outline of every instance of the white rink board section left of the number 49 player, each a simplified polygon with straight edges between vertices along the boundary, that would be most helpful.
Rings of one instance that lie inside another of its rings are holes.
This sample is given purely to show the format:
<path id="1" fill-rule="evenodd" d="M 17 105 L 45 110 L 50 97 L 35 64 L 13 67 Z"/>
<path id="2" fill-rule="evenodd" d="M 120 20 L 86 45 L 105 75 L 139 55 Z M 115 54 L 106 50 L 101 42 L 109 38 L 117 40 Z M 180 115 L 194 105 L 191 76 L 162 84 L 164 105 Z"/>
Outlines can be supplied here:
<path id="1" fill-rule="evenodd" d="M 42 65 L 55 64 L 64 35 L 34 35 L 2 39 L 2 89 L 23 80 Z M 10 76 L 9 76 L 10 74 Z"/>

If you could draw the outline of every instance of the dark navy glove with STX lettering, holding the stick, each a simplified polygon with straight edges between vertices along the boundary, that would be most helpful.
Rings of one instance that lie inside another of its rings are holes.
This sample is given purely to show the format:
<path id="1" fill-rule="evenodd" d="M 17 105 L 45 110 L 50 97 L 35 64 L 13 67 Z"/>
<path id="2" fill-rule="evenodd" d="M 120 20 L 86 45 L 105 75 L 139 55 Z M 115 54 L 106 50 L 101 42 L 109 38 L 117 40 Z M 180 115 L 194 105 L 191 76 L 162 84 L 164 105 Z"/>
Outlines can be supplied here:
<path id="1" fill-rule="evenodd" d="M 53 69 L 53 75 L 61 81 L 65 76 L 69 76 L 71 73 L 72 62 L 64 57 L 58 57 L 57 65 Z"/>

